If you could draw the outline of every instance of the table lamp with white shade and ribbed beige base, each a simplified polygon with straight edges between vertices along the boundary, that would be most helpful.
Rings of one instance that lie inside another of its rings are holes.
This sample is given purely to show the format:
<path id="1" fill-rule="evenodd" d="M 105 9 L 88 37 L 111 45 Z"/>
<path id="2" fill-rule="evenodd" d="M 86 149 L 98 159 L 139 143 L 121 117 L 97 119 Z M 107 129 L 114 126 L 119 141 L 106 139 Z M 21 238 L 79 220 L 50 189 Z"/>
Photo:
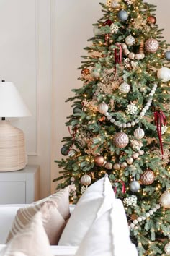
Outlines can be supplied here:
<path id="1" fill-rule="evenodd" d="M 24 132 L 6 118 L 31 116 L 12 82 L 0 82 L 0 171 L 17 171 L 26 166 Z"/>

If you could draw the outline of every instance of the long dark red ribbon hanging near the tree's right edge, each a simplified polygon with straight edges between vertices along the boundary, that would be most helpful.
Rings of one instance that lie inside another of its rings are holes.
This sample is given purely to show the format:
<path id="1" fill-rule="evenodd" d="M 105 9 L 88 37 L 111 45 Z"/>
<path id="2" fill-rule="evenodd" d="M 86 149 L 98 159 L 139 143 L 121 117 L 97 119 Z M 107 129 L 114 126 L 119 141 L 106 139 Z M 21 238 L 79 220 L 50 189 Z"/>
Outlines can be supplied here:
<path id="1" fill-rule="evenodd" d="M 156 111 L 154 113 L 155 116 L 155 124 L 156 124 L 156 129 L 158 132 L 158 139 L 161 147 L 161 154 L 162 154 L 162 159 L 164 158 L 164 148 L 162 144 L 162 134 L 161 134 L 161 126 L 166 125 L 166 116 L 162 111 Z"/>

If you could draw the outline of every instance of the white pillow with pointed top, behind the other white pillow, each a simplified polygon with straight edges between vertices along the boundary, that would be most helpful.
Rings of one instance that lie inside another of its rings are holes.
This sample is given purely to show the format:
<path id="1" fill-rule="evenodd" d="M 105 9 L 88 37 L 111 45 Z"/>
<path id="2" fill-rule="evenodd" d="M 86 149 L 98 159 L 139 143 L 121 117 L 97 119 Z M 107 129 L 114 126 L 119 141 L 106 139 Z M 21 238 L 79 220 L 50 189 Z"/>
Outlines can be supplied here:
<path id="1" fill-rule="evenodd" d="M 115 193 L 106 174 L 81 196 L 71 214 L 58 245 L 79 246 L 94 220 L 112 208 Z"/>

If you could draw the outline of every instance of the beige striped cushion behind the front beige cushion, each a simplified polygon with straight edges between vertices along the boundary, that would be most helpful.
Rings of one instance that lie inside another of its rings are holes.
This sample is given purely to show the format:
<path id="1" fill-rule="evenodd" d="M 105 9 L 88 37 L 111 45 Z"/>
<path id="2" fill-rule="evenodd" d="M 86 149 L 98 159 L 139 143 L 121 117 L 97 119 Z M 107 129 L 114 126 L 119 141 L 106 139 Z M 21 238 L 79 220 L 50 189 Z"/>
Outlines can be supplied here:
<path id="1" fill-rule="evenodd" d="M 9 242 L 18 231 L 24 229 L 24 226 L 32 220 L 32 216 L 40 210 L 43 213 L 43 223 L 50 239 L 50 244 L 58 244 L 63 227 L 66 225 L 66 219 L 70 216 L 68 187 L 54 195 L 50 195 L 50 197 L 34 202 L 28 207 L 20 208 L 14 218 L 6 242 Z"/>

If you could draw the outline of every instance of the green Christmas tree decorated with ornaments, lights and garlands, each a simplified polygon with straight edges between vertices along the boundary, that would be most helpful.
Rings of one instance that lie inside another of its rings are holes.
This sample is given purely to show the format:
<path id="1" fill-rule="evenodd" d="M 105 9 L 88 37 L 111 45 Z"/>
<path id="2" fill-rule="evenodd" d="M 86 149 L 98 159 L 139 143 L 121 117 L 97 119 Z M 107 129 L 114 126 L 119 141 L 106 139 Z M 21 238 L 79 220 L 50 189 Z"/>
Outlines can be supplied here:
<path id="1" fill-rule="evenodd" d="M 109 0 L 82 56 L 82 87 L 63 138 L 62 180 L 76 202 L 109 174 L 125 205 L 131 239 L 142 255 L 170 255 L 170 51 L 156 24 L 156 6 Z"/>

